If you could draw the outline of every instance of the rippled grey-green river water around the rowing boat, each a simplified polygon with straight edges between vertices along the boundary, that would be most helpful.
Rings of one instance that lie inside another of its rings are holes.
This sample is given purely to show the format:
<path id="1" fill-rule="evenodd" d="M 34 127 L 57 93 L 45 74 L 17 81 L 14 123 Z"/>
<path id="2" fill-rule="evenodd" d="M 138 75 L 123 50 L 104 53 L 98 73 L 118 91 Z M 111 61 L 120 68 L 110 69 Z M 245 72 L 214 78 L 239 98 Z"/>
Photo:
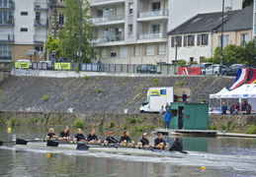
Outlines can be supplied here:
<path id="1" fill-rule="evenodd" d="M 0 126 L 0 141 L 44 138 L 45 127 L 15 127 L 7 133 Z M 55 129 L 59 133 L 61 129 Z M 84 130 L 84 135 L 89 130 Z M 97 132 L 104 139 L 108 131 Z M 71 135 L 75 130 L 71 130 Z M 130 133 L 137 141 L 141 133 Z M 119 138 L 121 131 L 115 132 Z M 149 136 L 152 142 L 155 135 Z M 165 137 L 169 144 L 174 137 Z M 197 157 L 152 157 L 59 148 L 0 147 L 0 176 L 256 176 L 256 139 L 183 137 L 185 150 L 203 154 Z M 45 154 L 49 153 L 50 157 Z M 201 167 L 206 169 L 202 170 Z"/>

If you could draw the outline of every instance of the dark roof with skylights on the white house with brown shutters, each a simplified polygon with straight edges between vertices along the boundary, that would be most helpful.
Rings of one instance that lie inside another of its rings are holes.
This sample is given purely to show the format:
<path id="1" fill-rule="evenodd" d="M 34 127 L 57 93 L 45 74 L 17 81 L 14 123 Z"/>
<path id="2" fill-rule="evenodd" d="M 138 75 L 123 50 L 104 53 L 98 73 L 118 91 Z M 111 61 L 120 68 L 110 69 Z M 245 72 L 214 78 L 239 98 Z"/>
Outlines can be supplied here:
<path id="1" fill-rule="evenodd" d="M 228 11 L 224 14 L 224 22 L 228 21 L 234 14 L 239 11 Z M 218 28 L 222 22 L 222 12 L 198 14 L 189 21 L 176 29 L 172 29 L 167 34 L 178 33 L 195 33 L 195 32 L 210 32 Z"/>

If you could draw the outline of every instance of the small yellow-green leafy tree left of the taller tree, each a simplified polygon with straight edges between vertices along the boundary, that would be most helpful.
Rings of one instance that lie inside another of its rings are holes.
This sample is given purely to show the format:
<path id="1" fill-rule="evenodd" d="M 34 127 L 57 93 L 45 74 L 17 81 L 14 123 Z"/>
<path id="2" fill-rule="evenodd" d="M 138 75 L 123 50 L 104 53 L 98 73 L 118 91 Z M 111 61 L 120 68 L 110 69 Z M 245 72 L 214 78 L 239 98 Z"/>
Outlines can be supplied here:
<path id="1" fill-rule="evenodd" d="M 52 50 L 55 50 L 55 57 L 58 58 L 61 56 L 61 48 L 59 44 L 59 39 L 54 38 L 53 35 L 48 35 L 47 41 L 45 43 L 45 48 L 48 53 L 51 53 Z"/>

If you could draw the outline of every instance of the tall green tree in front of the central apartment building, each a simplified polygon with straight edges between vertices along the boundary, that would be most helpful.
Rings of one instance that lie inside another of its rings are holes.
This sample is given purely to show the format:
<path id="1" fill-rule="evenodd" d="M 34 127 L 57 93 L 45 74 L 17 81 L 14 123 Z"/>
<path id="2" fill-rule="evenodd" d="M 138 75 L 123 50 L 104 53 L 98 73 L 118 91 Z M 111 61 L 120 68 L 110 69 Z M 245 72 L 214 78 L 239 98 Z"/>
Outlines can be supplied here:
<path id="1" fill-rule="evenodd" d="M 82 7 L 80 6 L 82 5 Z M 65 27 L 59 32 L 61 54 L 64 58 L 78 61 L 79 37 L 81 37 L 81 63 L 90 63 L 95 58 L 95 37 L 93 36 L 93 24 L 89 16 L 88 0 L 65 0 L 63 14 Z M 81 13 L 81 36 L 79 35 Z"/>

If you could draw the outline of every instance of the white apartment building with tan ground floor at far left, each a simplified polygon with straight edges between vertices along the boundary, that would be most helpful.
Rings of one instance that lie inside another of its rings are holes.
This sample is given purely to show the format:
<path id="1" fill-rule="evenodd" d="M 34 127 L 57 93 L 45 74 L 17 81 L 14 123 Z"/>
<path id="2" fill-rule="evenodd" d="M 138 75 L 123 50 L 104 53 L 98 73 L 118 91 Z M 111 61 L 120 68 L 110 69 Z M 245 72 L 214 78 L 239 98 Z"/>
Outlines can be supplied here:
<path id="1" fill-rule="evenodd" d="M 0 59 L 39 61 L 47 37 L 47 0 L 0 0 Z"/>

